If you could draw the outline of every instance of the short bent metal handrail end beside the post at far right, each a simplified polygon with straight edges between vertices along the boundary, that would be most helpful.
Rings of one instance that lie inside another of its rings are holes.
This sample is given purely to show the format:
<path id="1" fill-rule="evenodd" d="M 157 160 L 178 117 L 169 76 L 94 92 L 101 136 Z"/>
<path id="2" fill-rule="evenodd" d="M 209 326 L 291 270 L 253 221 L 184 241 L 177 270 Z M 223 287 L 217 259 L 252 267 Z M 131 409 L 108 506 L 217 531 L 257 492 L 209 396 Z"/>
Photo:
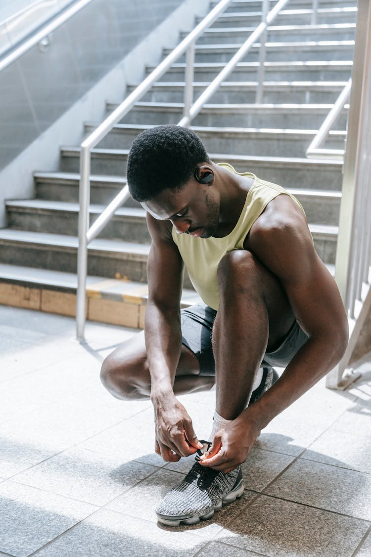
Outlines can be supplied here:
<path id="1" fill-rule="evenodd" d="M 332 129 L 334 123 L 340 116 L 341 111 L 344 108 L 345 103 L 348 101 L 350 96 L 350 89 L 352 88 L 352 79 L 349 79 L 347 85 L 338 96 L 333 108 L 330 110 L 323 123 L 321 124 L 318 132 L 316 133 L 313 141 L 306 149 L 306 157 L 316 157 L 316 158 L 332 158 L 332 159 L 343 159 L 344 149 L 319 149 L 319 146 L 325 140 L 330 129 Z"/>

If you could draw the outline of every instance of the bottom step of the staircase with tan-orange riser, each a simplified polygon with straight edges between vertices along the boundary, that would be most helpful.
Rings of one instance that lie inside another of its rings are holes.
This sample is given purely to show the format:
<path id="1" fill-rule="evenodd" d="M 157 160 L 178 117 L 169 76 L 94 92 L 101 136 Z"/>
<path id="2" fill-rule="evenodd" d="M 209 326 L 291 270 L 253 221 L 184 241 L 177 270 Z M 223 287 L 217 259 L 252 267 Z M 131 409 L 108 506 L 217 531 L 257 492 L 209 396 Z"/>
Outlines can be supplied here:
<path id="1" fill-rule="evenodd" d="M 86 284 L 87 319 L 144 328 L 146 284 L 103 276 L 88 276 Z M 0 263 L 0 304 L 75 316 L 76 291 L 75 273 Z M 181 307 L 199 301 L 194 290 L 183 290 Z"/>

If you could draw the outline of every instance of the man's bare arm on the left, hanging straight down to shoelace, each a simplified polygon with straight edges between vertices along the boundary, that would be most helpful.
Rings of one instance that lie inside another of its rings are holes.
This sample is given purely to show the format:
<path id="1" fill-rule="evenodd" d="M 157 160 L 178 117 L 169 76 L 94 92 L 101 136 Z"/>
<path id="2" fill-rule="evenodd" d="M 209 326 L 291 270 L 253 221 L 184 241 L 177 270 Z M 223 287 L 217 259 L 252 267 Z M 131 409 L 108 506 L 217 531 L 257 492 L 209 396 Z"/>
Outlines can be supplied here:
<path id="1" fill-rule="evenodd" d="M 171 224 L 147 215 L 152 237 L 147 262 L 149 299 L 145 315 L 151 400 L 155 409 L 156 452 L 176 461 L 196 452 L 191 418 L 175 398 L 173 385 L 181 354 L 180 299 L 183 263 L 172 241 Z"/>

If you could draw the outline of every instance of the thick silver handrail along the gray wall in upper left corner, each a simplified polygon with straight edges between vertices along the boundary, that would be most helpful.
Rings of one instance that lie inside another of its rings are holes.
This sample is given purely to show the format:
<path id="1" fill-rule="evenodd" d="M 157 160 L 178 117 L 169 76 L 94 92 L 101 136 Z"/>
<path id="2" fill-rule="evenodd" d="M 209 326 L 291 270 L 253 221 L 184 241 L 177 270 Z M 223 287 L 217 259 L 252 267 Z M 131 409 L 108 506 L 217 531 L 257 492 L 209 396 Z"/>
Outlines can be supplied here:
<path id="1" fill-rule="evenodd" d="M 9 54 L 4 56 L 0 60 L 0 71 L 9 66 L 12 62 L 16 61 L 20 56 L 27 52 L 34 45 L 37 45 L 43 38 L 50 35 L 58 27 L 66 23 L 68 19 L 74 16 L 77 12 L 80 12 L 82 8 L 85 8 L 87 4 L 90 4 L 93 0 L 77 0 L 71 7 L 63 9 L 62 13 L 53 17 L 52 20 L 44 25 L 39 31 L 34 33 L 31 37 L 27 38 L 21 44 L 14 48 Z"/>

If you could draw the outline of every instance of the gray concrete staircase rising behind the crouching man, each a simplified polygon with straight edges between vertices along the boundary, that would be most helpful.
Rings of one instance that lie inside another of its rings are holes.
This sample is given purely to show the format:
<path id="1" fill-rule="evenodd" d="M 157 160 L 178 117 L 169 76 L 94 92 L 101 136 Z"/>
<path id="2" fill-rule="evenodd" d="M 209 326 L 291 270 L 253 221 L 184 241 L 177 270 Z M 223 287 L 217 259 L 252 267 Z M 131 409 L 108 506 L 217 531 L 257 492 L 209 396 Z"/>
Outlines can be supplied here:
<path id="1" fill-rule="evenodd" d="M 259 25 L 260 9 L 261 1 L 235 0 L 197 42 L 195 98 Z M 356 0 L 323 0 L 311 23 L 311 1 L 293 0 L 268 31 L 263 102 L 255 104 L 256 44 L 192 122 L 214 162 L 229 162 L 298 197 L 315 248 L 332 271 L 342 163 L 306 159 L 305 150 L 350 77 L 356 12 Z M 181 119 L 184 71 L 179 60 L 93 149 L 91 222 L 126 183 L 136 135 Z M 108 112 L 115 108 L 107 103 Z M 325 147 L 344 148 L 346 121 L 347 108 Z M 97 125 L 85 123 L 83 133 Z M 34 173 L 36 197 L 7 202 L 8 228 L 0 230 L 1 304 L 75 315 L 79 157 L 77 146 L 62 147 L 58 172 Z M 127 202 L 89 245 L 88 319 L 143 326 L 149 242 L 145 212 Z M 186 305 L 197 296 L 187 278 L 185 286 Z"/>

